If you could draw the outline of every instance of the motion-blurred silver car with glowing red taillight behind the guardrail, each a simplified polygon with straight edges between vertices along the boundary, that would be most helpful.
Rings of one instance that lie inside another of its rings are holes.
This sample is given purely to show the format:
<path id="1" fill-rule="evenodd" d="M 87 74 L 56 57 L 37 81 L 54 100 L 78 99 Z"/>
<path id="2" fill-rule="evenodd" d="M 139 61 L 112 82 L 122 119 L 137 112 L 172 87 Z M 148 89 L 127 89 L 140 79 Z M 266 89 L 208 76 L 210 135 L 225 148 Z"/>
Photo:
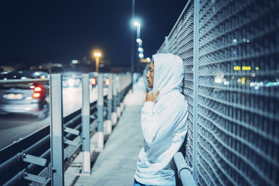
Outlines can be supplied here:
<path id="1" fill-rule="evenodd" d="M 7 79 L 45 79 L 46 73 L 13 71 L 1 75 Z M 31 114 L 39 119 L 47 117 L 49 106 L 48 82 L 18 82 L 0 84 L 1 114 Z"/>

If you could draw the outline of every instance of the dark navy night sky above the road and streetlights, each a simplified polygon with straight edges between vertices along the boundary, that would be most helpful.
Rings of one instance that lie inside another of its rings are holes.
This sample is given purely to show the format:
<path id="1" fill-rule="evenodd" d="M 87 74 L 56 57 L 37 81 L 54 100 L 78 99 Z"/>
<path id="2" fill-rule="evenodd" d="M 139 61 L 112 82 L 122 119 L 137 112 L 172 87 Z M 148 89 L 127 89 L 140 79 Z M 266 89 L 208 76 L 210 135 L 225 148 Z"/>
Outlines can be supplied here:
<path id="1" fill-rule="evenodd" d="M 135 0 L 145 57 L 156 53 L 186 3 Z M 113 66 L 129 66 L 131 6 L 132 0 L 1 1 L 0 64 L 69 63 L 100 49 Z"/>

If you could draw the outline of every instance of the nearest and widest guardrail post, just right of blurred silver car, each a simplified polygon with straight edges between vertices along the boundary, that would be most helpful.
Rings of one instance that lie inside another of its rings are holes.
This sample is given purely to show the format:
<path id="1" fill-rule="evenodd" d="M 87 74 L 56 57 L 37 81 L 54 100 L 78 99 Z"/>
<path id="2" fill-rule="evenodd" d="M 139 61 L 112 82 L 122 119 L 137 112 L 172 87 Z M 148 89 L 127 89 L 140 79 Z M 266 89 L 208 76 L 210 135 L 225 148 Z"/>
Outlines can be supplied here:
<path id="1" fill-rule="evenodd" d="M 50 75 L 50 139 L 52 185 L 64 185 L 63 100 L 61 74 Z"/>

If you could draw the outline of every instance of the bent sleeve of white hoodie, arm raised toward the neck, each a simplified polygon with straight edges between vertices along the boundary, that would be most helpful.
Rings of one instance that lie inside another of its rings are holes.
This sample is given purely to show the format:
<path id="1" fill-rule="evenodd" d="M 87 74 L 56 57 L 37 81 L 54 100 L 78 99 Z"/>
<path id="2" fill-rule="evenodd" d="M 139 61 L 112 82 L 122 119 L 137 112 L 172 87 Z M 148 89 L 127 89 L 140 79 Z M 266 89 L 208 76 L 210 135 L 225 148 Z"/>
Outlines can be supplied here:
<path id="1" fill-rule="evenodd" d="M 142 107 L 142 134 L 147 146 L 159 144 L 171 136 L 183 111 L 181 104 L 166 102 L 153 111 L 154 103 L 145 102 Z"/>

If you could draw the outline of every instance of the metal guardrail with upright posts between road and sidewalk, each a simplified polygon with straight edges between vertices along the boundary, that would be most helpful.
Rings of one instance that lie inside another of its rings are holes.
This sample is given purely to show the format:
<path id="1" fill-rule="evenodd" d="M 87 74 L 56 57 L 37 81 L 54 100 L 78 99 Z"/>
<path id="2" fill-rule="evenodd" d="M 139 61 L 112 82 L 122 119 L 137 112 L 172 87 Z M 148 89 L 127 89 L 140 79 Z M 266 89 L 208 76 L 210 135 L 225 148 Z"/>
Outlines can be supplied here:
<path id="1" fill-rule="evenodd" d="M 82 75 L 82 109 L 63 117 L 62 75 L 50 75 L 50 125 L 0 151 L 0 185 L 63 185 L 66 162 L 77 150 L 83 153 L 82 173 L 90 173 L 90 137 L 98 132 L 103 148 L 104 123 L 112 131 L 130 90 L 130 75 L 109 74 L 108 94 L 103 95 L 103 74 L 98 75 L 98 100 L 89 102 L 89 74 Z M 20 82 L 36 82 L 38 79 Z M 38 80 L 42 81 L 42 80 Z M 18 83 L 9 80 L 0 83 Z M 104 122 L 105 119 L 105 122 Z"/>

